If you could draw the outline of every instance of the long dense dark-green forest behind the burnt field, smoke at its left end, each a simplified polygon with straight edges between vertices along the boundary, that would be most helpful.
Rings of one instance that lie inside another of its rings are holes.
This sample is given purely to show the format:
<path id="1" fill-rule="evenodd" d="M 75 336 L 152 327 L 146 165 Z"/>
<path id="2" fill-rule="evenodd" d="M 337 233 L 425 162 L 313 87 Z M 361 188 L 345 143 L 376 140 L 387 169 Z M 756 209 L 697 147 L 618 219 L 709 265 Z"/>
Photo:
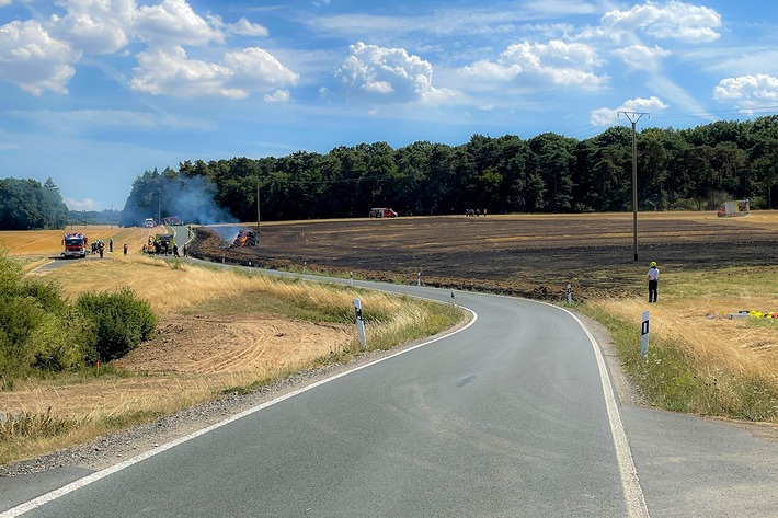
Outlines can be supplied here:
<path id="1" fill-rule="evenodd" d="M 778 116 L 637 135 L 639 210 L 712 209 L 750 198 L 773 208 L 778 194 Z M 337 147 L 327 154 L 186 161 L 146 171 L 133 184 L 123 223 L 180 216 L 191 222 L 400 215 L 587 212 L 632 209 L 632 131 L 611 127 L 575 140 L 474 135 L 450 147 L 426 141 Z"/>

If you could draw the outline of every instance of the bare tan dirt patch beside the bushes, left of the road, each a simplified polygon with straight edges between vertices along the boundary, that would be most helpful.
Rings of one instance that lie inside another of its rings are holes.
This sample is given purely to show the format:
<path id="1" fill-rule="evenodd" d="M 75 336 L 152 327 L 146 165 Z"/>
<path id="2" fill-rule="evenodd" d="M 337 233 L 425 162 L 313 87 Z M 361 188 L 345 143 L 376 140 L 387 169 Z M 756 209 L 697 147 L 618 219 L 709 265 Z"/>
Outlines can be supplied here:
<path id="1" fill-rule="evenodd" d="M 171 405 L 176 398 L 196 402 L 215 390 L 250 384 L 274 369 L 306 365 L 350 339 L 346 326 L 260 314 L 170 316 L 155 338 L 115 361 L 140 376 L 56 385 L 20 381 L 13 391 L 0 392 L 0 410 L 42 414 L 50 408 L 56 415 L 83 417 L 155 408 L 159 399 Z"/>

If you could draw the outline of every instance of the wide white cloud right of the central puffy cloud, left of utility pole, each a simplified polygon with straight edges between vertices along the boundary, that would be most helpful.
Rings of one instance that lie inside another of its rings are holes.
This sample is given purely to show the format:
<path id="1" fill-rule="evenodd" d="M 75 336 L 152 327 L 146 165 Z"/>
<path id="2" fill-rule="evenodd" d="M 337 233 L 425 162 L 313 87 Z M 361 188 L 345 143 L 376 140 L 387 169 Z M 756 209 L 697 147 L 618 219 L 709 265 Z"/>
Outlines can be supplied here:
<path id="1" fill-rule="evenodd" d="M 593 72 L 603 61 L 594 47 L 552 39 L 548 44 L 523 42 L 511 45 L 497 61 L 481 60 L 460 73 L 482 80 L 513 81 L 519 77 L 558 85 L 598 88 L 608 77 Z"/>

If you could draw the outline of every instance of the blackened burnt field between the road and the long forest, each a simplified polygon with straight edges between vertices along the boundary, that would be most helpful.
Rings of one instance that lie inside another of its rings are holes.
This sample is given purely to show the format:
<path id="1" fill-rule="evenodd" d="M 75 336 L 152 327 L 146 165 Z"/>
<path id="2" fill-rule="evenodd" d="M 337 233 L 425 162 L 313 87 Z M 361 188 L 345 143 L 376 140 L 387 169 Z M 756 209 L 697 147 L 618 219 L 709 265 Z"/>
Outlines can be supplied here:
<path id="1" fill-rule="evenodd" d="M 247 226 L 196 228 L 190 255 L 276 269 L 561 299 L 642 291 L 645 269 L 778 263 L 778 215 L 712 212 L 414 217 L 263 223 L 259 245 L 228 246 Z M 254 223 L 255 227 L 255 223 Z"/>

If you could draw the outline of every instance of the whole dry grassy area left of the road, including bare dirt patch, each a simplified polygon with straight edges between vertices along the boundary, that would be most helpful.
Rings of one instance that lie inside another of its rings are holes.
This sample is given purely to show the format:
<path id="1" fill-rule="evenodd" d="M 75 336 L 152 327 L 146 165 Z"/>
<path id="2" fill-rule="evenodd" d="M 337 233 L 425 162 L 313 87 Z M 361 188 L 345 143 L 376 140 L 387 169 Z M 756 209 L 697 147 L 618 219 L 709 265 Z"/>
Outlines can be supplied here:
<path id="1" fill-rule="evenodd" d="M 175 326 L 199 325 L 202 336 L 187 335 L 183 342 L 179 338 L 181 347 L 170 348 L 164 335 L 160 335 L 117 362 L 127 371 L 100 377 L 87 371 L 18 380 L 13 391 L 0 392 L 0 411 L 28 416 L 25 434 L 31 436 L 0 440 L 0 463 L 148 422 L 219 398 L 227 390 L 266 384 L 332 360 L 325 357 L 333 350 L 337 352 L 334 359 L 347 359 L 344 354 L 356 342 L 353 324 L 343 322 L 353 318 L 355 297 L 368 308 L 365 311 L 371 324 L 368 341 L 377 345 L 398 338 L 391 344 L 396 345 L 405 339 L 409 329 L 412 329 L 409 339 L 419 337 L 422 324 L 416 325 L 417 321 L 430 319 L 416 302 L 382 292 L 300 279 L 279 280 L 142 255 L 114 254 L 112 260 L 68 262 L 47 274 L 47 280 L 59 284 L 71 299 L 83 291 L 130 287 Z M 198 321 L 198 315 L 207 319 Z M 213 315 L 219 315 L 224 322 L 218 324 L 234 334 L 217 336 L 216 324 L 208 320 Z M 439 331 L 454 321 L 443 326 L 439 322 L 433 324 Z M 428 326 L 428 322 L 423 325 Z M 300 336 L 311 339 L 298 339 Z M 195 343 L 197 339 L 202 343 Z M 337 343 L 331 343 L 332 339 Z M 142 361 L 130 358 L 136 353 L 144 357 Z M 159 364 L 153 358 L 160 354 L 172 355 L 164 362 L 171 366 L 170 370 L 145 370 Z M 203 356 L 195 357 L 197 354 Z M 225 361 L 242 364 L 222 368 Z"/>

